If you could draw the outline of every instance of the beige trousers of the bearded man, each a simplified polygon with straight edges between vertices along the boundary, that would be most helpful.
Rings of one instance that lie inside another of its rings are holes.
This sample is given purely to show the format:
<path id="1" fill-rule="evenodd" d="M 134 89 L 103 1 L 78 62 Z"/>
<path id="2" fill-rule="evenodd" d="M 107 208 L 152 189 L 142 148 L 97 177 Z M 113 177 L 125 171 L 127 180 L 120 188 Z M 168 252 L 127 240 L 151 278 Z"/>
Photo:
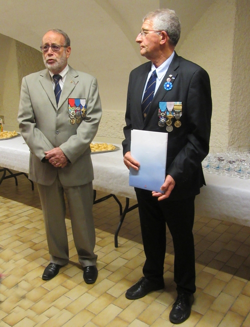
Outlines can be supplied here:
<path id="1" fill-rule="evenodd" d="M 50 262 L 65 265 L 68 262 L 68 241 L 65 225 L 66 195 L 75 248 L 80 264 L 95 265 L 95 230 L 92 215 L 92 182 L 80 186 L 62 186 L 58 177 L 51 186 L 37 184 Z"/>

